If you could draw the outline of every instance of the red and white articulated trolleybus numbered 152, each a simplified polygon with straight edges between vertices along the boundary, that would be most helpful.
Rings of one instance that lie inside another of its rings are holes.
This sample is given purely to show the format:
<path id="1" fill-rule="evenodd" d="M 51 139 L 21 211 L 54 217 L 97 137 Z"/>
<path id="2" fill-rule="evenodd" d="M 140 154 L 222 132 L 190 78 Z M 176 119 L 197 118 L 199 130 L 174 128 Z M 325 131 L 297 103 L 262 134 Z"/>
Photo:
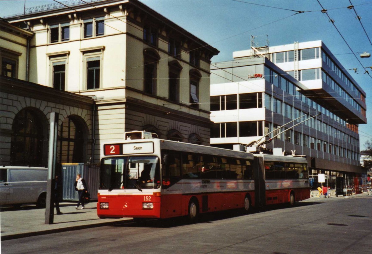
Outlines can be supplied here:
<path id="1" fill-rule="evenodd" d="M 156 135 L 156 134 L 155 134 Z M 100 218 L 187 216 L 310 197 L 307 160 L 251 154 L 126 132 L 102 145 Z"/>

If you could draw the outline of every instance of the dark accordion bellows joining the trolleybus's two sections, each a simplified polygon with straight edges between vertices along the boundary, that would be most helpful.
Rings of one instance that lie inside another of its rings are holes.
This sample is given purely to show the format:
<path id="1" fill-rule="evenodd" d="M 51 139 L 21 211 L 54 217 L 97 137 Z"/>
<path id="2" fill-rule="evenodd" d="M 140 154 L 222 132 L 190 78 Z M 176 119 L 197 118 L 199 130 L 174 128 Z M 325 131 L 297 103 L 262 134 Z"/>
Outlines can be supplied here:
<path id="1" fill-rule="evenodd" d="M 265 167 L 262 154 L 254 154 L 254 206 L 266 205 Z"/>

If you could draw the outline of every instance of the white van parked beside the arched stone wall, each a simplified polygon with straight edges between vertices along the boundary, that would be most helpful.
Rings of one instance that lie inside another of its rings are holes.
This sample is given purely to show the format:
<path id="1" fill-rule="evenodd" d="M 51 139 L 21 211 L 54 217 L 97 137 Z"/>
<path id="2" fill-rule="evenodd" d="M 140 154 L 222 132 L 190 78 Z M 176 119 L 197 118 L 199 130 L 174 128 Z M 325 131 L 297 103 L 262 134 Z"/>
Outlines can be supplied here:
<path id="1" fill-rule="evenodd" d="M 0 205 L 45 207 L 48 168 L 0 166 Z"/>

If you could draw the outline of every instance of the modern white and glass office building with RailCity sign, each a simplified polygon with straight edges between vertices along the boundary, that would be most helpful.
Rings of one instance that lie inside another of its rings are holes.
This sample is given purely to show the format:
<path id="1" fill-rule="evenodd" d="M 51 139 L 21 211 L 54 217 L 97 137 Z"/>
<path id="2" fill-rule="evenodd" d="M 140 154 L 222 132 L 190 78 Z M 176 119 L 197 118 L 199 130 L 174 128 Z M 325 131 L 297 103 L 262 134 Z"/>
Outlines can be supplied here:
<path id="1" fill-rule="evenodd" d="M 280 147 L 307 155 L 312 176 L 365 174 L 358 125 L 366 123 L 366 94 L 323 42 L 238 51 L 233 57 L 211 65 L 212 146 L 232 149 L 273 131 L 264 152 Z"/>

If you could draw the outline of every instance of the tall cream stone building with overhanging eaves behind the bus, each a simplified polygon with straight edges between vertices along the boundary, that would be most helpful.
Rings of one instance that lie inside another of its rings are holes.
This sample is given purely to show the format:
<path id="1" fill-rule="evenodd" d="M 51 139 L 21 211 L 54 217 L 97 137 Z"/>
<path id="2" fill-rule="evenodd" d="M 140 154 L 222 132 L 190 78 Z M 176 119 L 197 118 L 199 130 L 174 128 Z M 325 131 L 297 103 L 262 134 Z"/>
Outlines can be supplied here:
<path id="1" fill-rule="evenodd" d="M 5 20 L 33 34 L 25 80 L 93 101 L 84 156 L 97 163 L 102 142 L 132 130 L 208 145 L 210 63 L 219 51 L 140 1 L 80 3 Z"/>

